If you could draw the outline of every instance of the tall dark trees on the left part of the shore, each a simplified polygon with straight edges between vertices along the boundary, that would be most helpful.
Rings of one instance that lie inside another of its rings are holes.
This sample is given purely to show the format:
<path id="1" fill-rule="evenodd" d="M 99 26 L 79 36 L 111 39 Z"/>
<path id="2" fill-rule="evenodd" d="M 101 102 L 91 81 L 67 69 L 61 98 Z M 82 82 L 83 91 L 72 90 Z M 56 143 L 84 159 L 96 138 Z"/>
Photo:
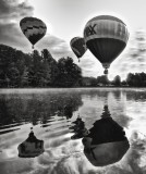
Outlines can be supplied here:
<path id="1" fill-rule="evenodd" d="M 57 62 L 47 49 L 23 53 L 0 45 L 0 88 L 77 87 L 82 71 L 73 59 Z"/>

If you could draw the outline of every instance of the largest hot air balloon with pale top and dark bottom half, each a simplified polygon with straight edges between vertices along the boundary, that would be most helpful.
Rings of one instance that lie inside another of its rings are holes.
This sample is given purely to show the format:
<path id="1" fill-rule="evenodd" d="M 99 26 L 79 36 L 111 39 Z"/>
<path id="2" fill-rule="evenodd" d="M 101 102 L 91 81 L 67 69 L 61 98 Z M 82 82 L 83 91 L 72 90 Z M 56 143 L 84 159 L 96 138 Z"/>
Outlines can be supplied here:
<path id="1" fill-rule="evenodd" d="M 87 48 L 102 64 L 105 74 L 108 74 L 111 62 L 126 46 L 129 32 L 118 17 L 99 15 L 87 22 L 84 39 Z"/>

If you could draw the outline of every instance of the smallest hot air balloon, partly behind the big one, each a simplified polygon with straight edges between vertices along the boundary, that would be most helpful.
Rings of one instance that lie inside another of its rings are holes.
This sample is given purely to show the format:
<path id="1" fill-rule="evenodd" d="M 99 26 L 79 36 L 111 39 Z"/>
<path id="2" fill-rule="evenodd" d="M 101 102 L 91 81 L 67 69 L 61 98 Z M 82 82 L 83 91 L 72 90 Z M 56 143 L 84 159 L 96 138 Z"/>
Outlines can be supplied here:
<path id="1" fill-rule="evenodd" d="M 82 37 L 74 37 L 70 41 L 70 45 L 71 45 L 71 48 L 72 48 L 73 52 L 78 58 L 78 62 L 80 62 L 80 58 L 82 58 L 83 54 L 87 50 L 84 38 L 82 38 Z"/>

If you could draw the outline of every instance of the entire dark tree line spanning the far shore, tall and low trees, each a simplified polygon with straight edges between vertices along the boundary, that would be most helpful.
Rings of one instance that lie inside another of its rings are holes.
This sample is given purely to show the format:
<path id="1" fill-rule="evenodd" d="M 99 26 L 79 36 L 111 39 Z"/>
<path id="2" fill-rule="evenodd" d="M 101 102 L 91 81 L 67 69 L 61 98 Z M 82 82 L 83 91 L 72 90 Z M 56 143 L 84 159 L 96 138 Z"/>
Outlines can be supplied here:
<path id="1" fill-rule="evenodd" d="M 56 61 L 47 49 L 24 53 L 0 45 L 0 88 L 102 86 L 146 87 L 146 74 L 129 73 L 125 80 L 119 75 L 113 80 L 105 75 L 83 77 L 81 67 L 70 57 Z"/>

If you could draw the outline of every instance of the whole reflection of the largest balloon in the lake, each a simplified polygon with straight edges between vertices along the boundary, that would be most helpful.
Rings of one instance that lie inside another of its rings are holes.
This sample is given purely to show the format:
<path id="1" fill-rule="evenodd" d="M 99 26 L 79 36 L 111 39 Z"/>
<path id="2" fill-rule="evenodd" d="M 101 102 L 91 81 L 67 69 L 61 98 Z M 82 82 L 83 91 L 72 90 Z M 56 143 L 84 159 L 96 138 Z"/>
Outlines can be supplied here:
<path id="1" fill-rule="evenodd" d="M 123 127 L 112 120 L 108 105 L 105 105 L 101 119 L 94 123 L 82 141 L 86 158 L 95 166 L 120 161 L 130 148 Z"/>

